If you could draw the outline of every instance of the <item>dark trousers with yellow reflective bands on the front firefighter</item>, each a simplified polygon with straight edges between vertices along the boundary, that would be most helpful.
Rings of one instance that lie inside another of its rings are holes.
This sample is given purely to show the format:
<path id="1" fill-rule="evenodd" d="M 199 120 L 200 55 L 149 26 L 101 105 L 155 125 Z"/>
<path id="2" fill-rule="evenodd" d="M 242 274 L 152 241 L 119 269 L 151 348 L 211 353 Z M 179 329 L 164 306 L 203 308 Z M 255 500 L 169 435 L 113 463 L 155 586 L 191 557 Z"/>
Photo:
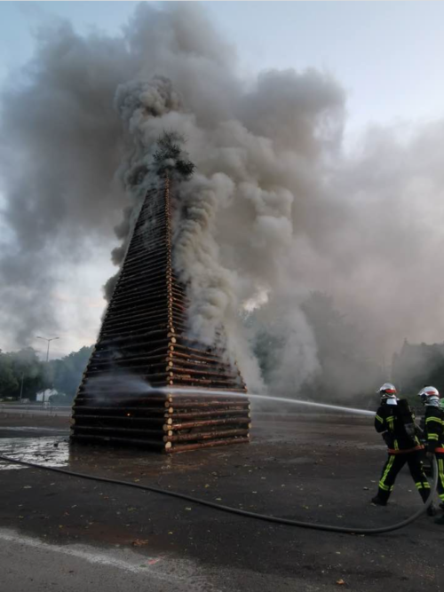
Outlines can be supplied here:
<path id="1" fill-rule="evenodd" d="M 387 501 L 389 499 L 390 494 L 393 491 L 393 485 L 396 476 L 398 475 L 398 473 L 400 472 L 400 470 L 406 462 L 408 463 L 410 475 L 415 481 L 415 485 L 419 494 L 423 498 L 423 501 L 427 500 L 427 498 L 430 495 L 430 485 L 424 474 L 423 462 L 421 461 L 421 451 L 419 450 L 415 450 L 410 453 L 404 454 L 389 454 L 387 462 L 385 462 L 384 465 L 381 479 L 379 481 L 379 488 L 377 492 L 379 498 L 381 498 L 384 501 Z"/>

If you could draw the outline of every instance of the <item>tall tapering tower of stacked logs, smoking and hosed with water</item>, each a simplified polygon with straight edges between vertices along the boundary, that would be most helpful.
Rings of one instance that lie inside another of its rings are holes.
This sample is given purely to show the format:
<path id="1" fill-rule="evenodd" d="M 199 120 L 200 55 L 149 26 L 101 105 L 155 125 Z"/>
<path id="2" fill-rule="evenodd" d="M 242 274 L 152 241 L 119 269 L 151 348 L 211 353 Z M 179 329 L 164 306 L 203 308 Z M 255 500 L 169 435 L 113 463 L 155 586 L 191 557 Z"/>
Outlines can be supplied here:
<path id="1" fill-rule="evenodd" d="M 75 397 L 73 441 L 168 453 L 249 441 L 250 402 L 242 377 L 223 352 L 187 336 L 188 305 L 172 267 L 166 178 L 147 193 L 140 210 Z M 215 394 L 201 395 L 200 389 Z"/>

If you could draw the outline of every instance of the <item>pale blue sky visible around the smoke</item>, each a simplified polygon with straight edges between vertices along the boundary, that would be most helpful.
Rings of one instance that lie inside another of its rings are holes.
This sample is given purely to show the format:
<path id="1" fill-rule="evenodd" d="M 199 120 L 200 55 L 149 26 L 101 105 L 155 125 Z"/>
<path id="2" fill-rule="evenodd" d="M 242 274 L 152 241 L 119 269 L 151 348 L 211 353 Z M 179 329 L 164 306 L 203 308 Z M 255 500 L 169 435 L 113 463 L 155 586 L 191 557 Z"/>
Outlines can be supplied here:
<path id="1" fill-rule="evenodd" d="M 1 3 L 0 91 L 32 57 L 33 35 L 42 23 L 67 19 L 81 33 L 99 28 L 118 34 L 135 4 Z M 203 4 L 236 47 L 246 77 L 272 67 L 317 67 L 337 78 L 347 92 L 346 146 L 370 124 L 427 122 L 443 114 L 443 3 Z M 1 218 L 0 230 L 1 242 L 7 233 Z M 66 277 L 60 282 L 64 289 L 57 294 L 60 338 L 52 343 L 52 357 L 94 341 L 103 309 L 101 286 L 114 272 L 109 262 L 112 246 L 101 244 L 99 249 L 91 249 L 94 257 L 87 264 L 67 265 Z M 85 292 L 89 296 L 84 296 Z M 29 344 L 42 347 L 38 340 Z M 7 346 L 0 343 L 2 349 Z"/>

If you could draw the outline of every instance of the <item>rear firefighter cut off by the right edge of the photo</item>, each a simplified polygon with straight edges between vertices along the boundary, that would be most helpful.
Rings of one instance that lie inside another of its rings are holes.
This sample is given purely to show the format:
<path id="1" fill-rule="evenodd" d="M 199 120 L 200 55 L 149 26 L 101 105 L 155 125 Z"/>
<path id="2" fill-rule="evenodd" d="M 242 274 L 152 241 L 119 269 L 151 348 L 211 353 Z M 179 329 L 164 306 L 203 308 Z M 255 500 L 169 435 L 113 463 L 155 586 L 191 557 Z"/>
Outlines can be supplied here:
<path id="1" fill-rule="evenodd" d="M 427 455 L 434 454 L 438 464 L 438 495 L 440 509 L 444 509 L 444 411 L 440 407 L 440 393 L 434 386 L 425 386 L 418 392 L 425 407 L 425 438 Z M 444 525 L 444 515 L 435 522 Z"/>

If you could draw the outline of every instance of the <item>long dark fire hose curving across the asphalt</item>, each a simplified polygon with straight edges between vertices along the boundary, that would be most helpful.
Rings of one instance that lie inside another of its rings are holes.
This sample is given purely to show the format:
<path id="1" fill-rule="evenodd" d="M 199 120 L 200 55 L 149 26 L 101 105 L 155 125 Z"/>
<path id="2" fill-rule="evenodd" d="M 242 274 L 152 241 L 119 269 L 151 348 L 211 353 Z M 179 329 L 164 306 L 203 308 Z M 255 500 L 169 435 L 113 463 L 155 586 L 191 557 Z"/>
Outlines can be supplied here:
<path id="1" fill-rule="evenodd" d="M 106 477 L 99 477 L 96 475 L 88 475 L 86 473 L 78 473 L 73 470 L 59 469 L 57 467 L 45 467 L 43 464 L 36 464 L 36 462 L 20 461 L 19 459 L 10 458 L 9 456 L 0 455 L 0 461 L 21 464 L 27 467 L 32 467 L 34 469 L 51 470 L 54 473 L 60 473 L 62 475 L 67 475 L 68 477 L 89 479 L 91 481 L 99 481 L 100 483 L 111 483 L 114 485 L 125 485 L 127 487 L 135 487 L 136 489 L 141 489 L 142 491 L 160 493 L 162 495 L 169 495 L 170 497 L 178 498 L 179 500 L 191 501 L 192 503 L 199 504 L 201 506 L 206 506 L 212 509 L 218 509 L 222 512 L 228 512 L 230 514 L 236 514 L 242 517 L 255 518 L 257 520 L 263 520 L 265 522 L 272 522 L 277 525 L 299 526 L 300 528 L 311 528 L 317 531 L 328 531 L 329 533 L 347 534 L 391 533 L 392 531 L 396 531 L 400 528 L 404 528 L 404 526 L 410 525 L 412 522 L 416 520 L 416 518 L 422 516 L 424 512 L 428 508 L 430 508 L 433 501 L 433 493 L 436 491 L 436 487 L 438 485 L 438 463 L 436 462 L 436 458 L 433 456 L 433 482 L 431 492 L 427 501 L 425 501 L 424 505 L 420 509 L 418 509 L 415 512 L 415 514 L 406 518 L 405 520 L 401 520 L 401 522 L 398 522 L 394 525 L 378 526 L 376 528 L 361 528 L 360 526 L 358 526 L 357 528 L 351 528 L 347 526 L 321 525 L 313 522 L 303 522 L 302 520 L 290 520 L 289 518 L 269 516 L 267 514 L 258 514 L 257 512 L 250 512 L 245 509 L 232 508 L 230 506 L 224 506 L 222 504 L 214 503 L 213 501 L 202 500 L 200 498 L 193 497 L 192 495 L 187 495 L 186 493 L 178 493 L 166 489 L 161 489 L 160 487 L 155 487 L 153 485 L 139 485 L 139 483 L 131 483 L 131 481 L 120 481 L 118 479 L 110 479 Z"/>

